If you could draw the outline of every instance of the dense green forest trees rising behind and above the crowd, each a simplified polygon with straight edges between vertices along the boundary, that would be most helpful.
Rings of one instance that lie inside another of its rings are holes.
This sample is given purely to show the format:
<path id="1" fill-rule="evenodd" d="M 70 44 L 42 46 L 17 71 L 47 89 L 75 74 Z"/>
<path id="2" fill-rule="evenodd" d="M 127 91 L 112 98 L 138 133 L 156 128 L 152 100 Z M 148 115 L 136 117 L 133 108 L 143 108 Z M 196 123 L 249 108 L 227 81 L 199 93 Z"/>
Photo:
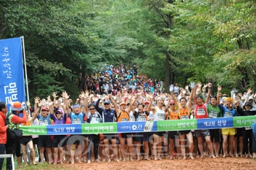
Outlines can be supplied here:
<path id="1" fill-rule="evenodd" d="M 256 90 L 255 0 L 0 0 L 0 39 L 24 36 L 29 93 L 78 96 L 106 64 Z"/>

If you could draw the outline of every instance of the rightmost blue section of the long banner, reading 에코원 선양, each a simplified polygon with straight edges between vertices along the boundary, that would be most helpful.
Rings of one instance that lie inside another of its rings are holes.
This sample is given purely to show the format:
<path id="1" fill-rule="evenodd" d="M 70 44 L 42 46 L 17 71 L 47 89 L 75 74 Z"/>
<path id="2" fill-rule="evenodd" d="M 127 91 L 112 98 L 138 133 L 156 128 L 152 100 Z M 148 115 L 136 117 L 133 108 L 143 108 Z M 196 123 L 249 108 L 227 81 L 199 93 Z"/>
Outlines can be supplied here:
<path id="1" fill-rule="evenodd" d="M 197 129 L 233 128 L 233 117 L 219 117 L 214 119 L 197 119 Z"/>

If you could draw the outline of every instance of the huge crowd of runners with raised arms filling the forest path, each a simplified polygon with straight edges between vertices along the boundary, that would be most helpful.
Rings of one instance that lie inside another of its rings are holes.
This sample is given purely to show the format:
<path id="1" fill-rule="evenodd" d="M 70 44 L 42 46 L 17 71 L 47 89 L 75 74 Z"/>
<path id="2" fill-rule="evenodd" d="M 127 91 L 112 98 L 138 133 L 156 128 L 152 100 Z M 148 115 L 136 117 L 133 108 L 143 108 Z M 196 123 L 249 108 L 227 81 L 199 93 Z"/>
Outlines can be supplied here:
<path id="1" fill-rule="evenodd" d="M 18 165 L 40 163 L 91 163 L 246 157 L 256 158 L 256 142 L 251 127 L 188 131 L 156 131 L 121 134 L 32 135 L 10 142 L 7 129 L 19 125 L 63 125 L 129 121 L 187 120 L 256 115 L 256 93 L 222 87 L 212 93 L 212 84 L 190 82 L 184 88 L 170 85 L 164 93 L 161 80 L 140 77 L 138 66 L 109 66 L 104 72 L 87 76 L 84 90 L 72 101 L 64 91 L 45 99 L 34 98 L 34 106 L 16 101 L 10 111 L 0 102 L 0 154 L 15 153 Z M 23 115 L 20 117 L 20 115 Z M 8 120 L 8 121 L 6 121 Z M 27 145 L 30 150 L 27 158 Z M 35 147 L 35 145 L 37 147 Z M 4 150 L 6 152 L 4 152 Z M 21 151 L 22 150 L 22 154 Z M 0 167 L 3 158 L 0 158 Z M 7 158 L 7 169 L 12 169 Z"/>

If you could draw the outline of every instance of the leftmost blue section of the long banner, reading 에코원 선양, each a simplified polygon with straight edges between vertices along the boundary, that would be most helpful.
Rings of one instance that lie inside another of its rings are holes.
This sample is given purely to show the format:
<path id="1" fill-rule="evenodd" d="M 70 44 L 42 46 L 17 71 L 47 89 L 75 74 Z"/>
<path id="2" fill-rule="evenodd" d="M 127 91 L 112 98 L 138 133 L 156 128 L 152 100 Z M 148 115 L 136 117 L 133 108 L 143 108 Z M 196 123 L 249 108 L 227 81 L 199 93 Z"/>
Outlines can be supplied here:
<path id="1" fill-rule="evenodd" d="M 83 134 L 80 124 L 46 125 L 47 134 Z"/>

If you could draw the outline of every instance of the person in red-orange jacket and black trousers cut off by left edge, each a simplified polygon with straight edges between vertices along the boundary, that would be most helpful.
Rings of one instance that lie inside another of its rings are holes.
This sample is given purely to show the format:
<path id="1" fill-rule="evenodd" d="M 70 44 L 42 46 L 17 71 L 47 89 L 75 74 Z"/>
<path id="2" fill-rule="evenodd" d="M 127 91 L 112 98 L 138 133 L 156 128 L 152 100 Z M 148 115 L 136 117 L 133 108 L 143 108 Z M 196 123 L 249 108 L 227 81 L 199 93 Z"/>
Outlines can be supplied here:
<path id="1" fill-rule="evenodd" d="M 5 119 L 7 114 L 7 105 L 0 102 L 0 154 L 4 154 L 5 144 L 7 143 L 7 128 L 9 125 L 5 125 Z M 3 166 L 4 158 L 0 158 L 0 169 Z"/>

